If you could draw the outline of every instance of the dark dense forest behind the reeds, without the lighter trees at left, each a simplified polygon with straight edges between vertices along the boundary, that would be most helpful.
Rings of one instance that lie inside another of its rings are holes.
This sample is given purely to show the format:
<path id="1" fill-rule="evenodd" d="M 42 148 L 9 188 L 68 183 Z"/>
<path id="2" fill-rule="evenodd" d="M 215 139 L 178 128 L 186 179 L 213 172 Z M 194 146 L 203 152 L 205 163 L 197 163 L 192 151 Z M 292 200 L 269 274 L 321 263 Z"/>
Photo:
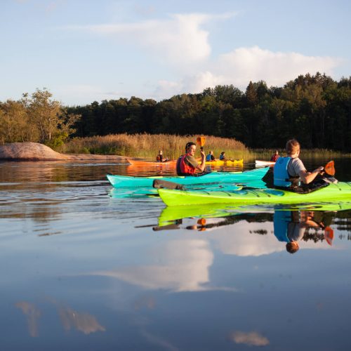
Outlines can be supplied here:
<path id="1" fill-rule="evenodd" d="M 110 133 L 206 134 L 235 138 L 248 147 L 284 147 L 295 137 L 305 148 L 351 150 L 351 77 L 334 81 L 306 74 L 284 87 L 264 81 L 206 88 L 156 102 L 132 97 L 69 107 L 81 114 L 77 136 Z"/>

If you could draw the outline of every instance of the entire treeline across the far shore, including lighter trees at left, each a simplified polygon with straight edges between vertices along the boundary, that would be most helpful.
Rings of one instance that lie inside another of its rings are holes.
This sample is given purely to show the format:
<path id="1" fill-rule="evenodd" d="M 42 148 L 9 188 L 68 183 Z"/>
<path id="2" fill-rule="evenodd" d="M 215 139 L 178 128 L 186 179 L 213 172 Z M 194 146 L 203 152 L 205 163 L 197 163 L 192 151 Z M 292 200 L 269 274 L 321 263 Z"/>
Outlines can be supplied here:
<path id="1" fill-rule="evenodd" d="M 152 99 L 103 100 L 63 107 L 37 90 L 18 101 L 0 102 L 0 143 L 37 141 L 55 147 L 69 135 L 214 135 L 252 148 L 282 148 L 297 138 L 304 148 L 351 151 L 351 77 L 301 75 L 283 87 L 250 81 L 198 94 Z"/>

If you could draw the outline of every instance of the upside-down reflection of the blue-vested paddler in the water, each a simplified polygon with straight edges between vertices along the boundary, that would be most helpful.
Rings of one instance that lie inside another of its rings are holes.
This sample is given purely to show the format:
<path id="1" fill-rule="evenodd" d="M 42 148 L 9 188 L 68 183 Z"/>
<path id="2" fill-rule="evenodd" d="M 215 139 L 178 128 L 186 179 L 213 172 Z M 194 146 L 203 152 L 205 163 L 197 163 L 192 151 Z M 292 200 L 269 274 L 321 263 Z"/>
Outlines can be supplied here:
<path id="1" fill-rule="evenodd" d="M 300 240 L 326 240 L 331 245 L 333 230 L 332 212 L 323 211 L 274 211 L 274 235 L 286 242 L 286 251 L 295 253 Z M 312 230 L 312 232 L 311 232 Z"/>

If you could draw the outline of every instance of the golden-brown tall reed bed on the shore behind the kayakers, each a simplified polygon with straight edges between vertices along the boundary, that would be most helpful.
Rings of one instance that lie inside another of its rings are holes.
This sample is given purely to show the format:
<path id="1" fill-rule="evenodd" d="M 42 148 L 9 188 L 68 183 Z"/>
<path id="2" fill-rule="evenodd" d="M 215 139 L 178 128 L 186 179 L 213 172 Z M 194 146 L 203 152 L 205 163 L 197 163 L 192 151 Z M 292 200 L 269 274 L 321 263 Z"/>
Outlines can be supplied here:
<path id="1" fill-rule="evenodd" d="M 185 144 L 189 141 L 196 143 L 198 136 L 145 133 L 74 138 L 59 151 L 74 154 L 118 154 L 126 157 L 155 159 L 159 150 L 162 150 L 168 159 L 176 159 L 185 152 Z M 216 158 L 222 151 L 225 151 L 227 159 L 239 159 L 249 153 L 246 146 L 235 139 L 211 135 L 205 135 L 205 137 L 205 152 L 212 150 Z"/>

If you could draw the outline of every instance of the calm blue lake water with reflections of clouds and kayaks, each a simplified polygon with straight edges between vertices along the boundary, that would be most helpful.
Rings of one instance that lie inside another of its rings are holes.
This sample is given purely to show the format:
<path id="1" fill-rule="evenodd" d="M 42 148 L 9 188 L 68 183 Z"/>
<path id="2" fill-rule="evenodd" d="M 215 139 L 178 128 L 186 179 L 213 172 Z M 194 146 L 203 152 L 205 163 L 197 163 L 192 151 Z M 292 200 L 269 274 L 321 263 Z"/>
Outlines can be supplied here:
<path id="1" fill-rule="evenodd" d="M 1 350 L 351 350 L 351 206 L 176 211 L 107 173 L 160 171 L 0 163 Z"/>

